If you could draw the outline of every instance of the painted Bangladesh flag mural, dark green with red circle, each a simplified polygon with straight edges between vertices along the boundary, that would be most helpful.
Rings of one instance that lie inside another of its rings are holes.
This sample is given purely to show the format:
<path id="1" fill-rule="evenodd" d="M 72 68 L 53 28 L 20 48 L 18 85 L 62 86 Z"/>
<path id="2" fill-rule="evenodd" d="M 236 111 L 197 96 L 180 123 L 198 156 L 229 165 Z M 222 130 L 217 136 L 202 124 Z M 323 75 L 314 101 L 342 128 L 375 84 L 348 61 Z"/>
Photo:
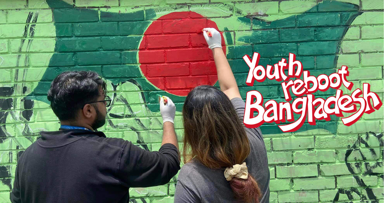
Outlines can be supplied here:
<path id="1" fill-rule="evenodd" d="M 279 82 L 265 80 L 255 83 L 256 87 L 245 84 L 249 67 L 242 57 L 258 52 L 261 54 L 259 65 L 266 67 L 266 64 L 280 61 L 281 57 L 287 58 L 291 52 L 297 55 L 296 59 L 302 62 L 304 69 L 313 69 L 311 75 L 329 75 L 336 68 L 340 41 L 348 25 L 359 15 L 357 5 L 328 0 L 315 4 L 304 13 L 269 21 L 255 17 L 251 20 L 247 12 L 233 11 L 225 5 L 222 5 L 220 15 L 228 12 L 227 16 L 232 17 L 211 18 L 215 13 L 199 6 L 190 10 L 177 5 L 172 8 L 98 10 L 73 8 L 73 5 L 58 0 L 46 2 L 50 8 L 55 8 L 55 54 L 37 87 L 28 96 L 49 103 L 46 93 L 58 74 L 67 70 L 93 70 L 111 81 L 114 90 L 126 82 L 137 85 L 152 112 L 159 111 L 158 95 L 170 97 L 177 104 L 177 111 L 181 111 L 182 102 L 191 88 L 218 86 L 212 52 L 200 33 L 202 28 L 216 28 L 222 33 L 223 51 L 244 99 L 246 92 L 258 90 L 267 100 L 273 98 L 280 102 L 284 100 L 280 97 Z M 338 12 L 321 11 L 324 9 Z M 310 42 L 302 43 L 304 41 Z M 322 94 L 334 95 L 334 92 L 331 89 Z M 304 125 L 302 130 L 311 128 L 314 126 Z M 316 128 L 334 132 L 336 123 L 318 124 Z M 263 133 L 281 131 L 276 126 L 263 130 Z"/>

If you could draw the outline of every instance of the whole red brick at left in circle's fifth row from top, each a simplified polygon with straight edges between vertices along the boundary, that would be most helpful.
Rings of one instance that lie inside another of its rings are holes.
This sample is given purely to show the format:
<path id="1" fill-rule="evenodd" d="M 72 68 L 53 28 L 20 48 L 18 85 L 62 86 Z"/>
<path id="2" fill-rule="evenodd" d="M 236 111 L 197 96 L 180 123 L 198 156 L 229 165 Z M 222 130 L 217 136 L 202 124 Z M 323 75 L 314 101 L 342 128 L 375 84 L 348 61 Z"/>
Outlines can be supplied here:
<path id="1" fill-rule="evenodd" d="M 189 75 L 189 64 L 151 64 L 147 70 L 149 77 Z"/>

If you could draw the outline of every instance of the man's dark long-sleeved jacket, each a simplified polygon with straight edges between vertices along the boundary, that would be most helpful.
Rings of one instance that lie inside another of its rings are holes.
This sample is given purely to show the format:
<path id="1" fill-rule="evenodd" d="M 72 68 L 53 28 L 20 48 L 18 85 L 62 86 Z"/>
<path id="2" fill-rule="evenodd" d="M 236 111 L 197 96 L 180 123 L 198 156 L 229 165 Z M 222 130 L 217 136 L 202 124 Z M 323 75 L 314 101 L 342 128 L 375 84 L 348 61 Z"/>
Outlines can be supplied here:
<path id="1" fill-rule="evenodd" d="M 102 132 L 41 132 L 18 160 L 13 203 L 126 203 L 130 187 L 163 185 L 177 174 L 173 144 L 158 152 Z"/>

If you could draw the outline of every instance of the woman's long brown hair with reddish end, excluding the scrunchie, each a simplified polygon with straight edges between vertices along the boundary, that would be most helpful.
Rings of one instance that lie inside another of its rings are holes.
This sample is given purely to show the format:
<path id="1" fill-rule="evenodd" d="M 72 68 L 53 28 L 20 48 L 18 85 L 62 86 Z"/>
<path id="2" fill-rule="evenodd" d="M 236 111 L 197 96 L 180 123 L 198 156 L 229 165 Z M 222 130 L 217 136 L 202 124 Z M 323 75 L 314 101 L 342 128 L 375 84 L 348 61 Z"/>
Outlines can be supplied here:
<path id="1" fill-rule="evenodd" d="M 242 164 L 250 152 L 244 126 L 227 95 L 215 87 L 202 85 L 189 92 L 183 106 L 184 163 L 192 159 L 210 169 Z M 223 174 L 224 177 L 224 174 Z M 259 202 L 260 188 L 255 179 L 232 178 L 235 198 Z"/>

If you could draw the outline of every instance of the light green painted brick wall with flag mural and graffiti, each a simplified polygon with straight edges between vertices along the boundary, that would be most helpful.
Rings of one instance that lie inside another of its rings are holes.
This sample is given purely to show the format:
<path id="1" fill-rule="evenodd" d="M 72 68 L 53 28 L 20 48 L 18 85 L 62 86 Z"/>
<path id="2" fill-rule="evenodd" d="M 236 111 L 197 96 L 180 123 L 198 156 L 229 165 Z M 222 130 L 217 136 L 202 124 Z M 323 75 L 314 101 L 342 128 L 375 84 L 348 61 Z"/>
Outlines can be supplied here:
<path id="1" fill-rule="evenodd" d="M 23 150 L 39 131 L 58 129 L 46 92 L 65 70 L 93 70 L 108 80 L 113 105 L 101 129 L 108 137 L 158 150 L 157 95 L 167 95 L 177 106 L 180 139 L 189 89 L 218 85 L 212 55 L 197 34 L 206 26 L 222 32 L 243 98 L 256 89 L 283 101 L 276 81 L 245 84 L 242 57 L 253 51 L 264 66 L 295 53 L 314 75 L 348 65 L 353 90 L 368 82 L 383 98 L 382 0 L 0 0 L 0 202 L 9 202 Z M 383 108 L 350 127 L 333 116 L 295 133 L 261 128 L 271 202 L 383 202 Z M 132 202 L 173 202 L 176 180 L 131 188 Z"/>

